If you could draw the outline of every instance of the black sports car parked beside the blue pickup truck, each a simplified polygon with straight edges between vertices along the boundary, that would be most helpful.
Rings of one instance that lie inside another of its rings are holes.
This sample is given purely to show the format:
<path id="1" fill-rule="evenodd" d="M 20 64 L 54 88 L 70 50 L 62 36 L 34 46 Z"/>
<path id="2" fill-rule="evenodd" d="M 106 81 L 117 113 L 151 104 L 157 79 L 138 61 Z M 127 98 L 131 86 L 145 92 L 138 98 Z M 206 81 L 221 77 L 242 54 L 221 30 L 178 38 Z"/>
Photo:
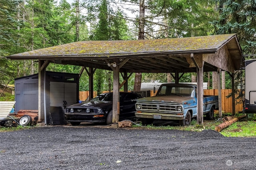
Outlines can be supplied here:
<path id="1" fill-rule="evenodd" d="M 119 120 L 131 119 L 135 115 L 135 104 L 141 95 L 132 92 L 120 92 Z M 81 122 L 105 122 L 112 124 L 112 99 L 113 93 L 100 94 L 90 102 L 71 105 L 66 108 L 65 118 L 71 125 L 79 125 Z"/>

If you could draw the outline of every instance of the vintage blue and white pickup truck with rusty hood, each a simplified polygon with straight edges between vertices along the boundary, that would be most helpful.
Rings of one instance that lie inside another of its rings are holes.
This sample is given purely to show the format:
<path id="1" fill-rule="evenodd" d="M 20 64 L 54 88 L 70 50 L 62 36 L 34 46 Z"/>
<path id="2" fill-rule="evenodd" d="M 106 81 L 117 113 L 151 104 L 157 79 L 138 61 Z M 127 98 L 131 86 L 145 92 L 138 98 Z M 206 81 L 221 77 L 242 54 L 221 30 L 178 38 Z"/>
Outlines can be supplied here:
<path id="1" fill-rule="evenodd" d="M 204 96 L 204 114 L 207 119 L 214 118 L 218 109 L 218 96 Z M 152 124 L 155 119 L 178 121 L 180 125 L 190 125 L 197 115 L 196 85 L 162 84 L 156 96 L 140 98 L 136 102 L 135 116 L 142 125 Z"/>

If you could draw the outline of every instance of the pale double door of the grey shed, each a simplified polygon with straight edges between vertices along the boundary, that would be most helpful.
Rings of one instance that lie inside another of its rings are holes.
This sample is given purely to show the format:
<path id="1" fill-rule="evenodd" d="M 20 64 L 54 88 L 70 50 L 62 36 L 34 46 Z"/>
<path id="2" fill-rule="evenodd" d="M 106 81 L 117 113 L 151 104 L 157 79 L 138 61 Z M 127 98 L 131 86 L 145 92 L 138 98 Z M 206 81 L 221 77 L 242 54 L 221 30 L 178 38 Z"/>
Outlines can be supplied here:
<path id="1" fill-rule="evenodd" d="M 76 104 L 76 83 L 50 82 L 50 106 Z"/>

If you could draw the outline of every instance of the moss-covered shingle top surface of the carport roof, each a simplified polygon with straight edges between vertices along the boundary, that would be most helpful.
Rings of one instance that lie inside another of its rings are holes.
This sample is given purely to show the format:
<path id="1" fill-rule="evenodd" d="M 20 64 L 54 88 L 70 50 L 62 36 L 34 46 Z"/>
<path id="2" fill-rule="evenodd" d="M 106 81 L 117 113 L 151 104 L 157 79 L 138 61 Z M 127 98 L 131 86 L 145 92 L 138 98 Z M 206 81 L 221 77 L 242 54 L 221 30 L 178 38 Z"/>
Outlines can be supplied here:
<path id="1" fill-rule="evenodd" d="M 78 41 L 12 56 L 120 55 L 150 52 L 183 52 L 218 49 L 236 34 L 209 35 L 172 39 Z M 10 56 L 10 58 L 12 57 Z"/>

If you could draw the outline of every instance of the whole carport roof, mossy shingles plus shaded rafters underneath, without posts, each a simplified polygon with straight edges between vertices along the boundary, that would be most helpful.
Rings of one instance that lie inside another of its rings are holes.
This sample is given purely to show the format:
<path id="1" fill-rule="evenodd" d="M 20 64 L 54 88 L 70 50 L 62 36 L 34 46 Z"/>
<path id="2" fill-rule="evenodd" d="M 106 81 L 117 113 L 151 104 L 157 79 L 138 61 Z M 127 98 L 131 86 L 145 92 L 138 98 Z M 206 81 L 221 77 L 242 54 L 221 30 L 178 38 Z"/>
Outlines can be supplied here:
<path id="1" fill-rule="evenodd" d="M 78 41 L 44 49 L 10 55 L 9 59 L 38 59 L 52 63 L 112 70 L 108 65 L 126 63 L 120 72 L 196 72 L 190 62 L 190 54 L 214 54 L 226 45 L 234 68 L 240 68 L 242 52 L 236 34 L 210 35 L 200 37 Z M 216 61 L 218 62 L 218 61 Z M 204 71 L 216 71 L 216 66 L 205 63 Z"/>

